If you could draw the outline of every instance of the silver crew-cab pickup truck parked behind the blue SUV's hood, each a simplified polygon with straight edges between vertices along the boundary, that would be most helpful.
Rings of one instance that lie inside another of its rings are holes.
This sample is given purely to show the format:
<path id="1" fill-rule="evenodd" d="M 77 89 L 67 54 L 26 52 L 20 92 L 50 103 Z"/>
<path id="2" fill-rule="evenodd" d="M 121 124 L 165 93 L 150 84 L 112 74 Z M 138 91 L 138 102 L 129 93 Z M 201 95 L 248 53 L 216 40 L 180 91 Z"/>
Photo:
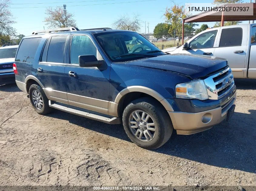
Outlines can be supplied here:
<path id="1" fill-rule="evenodd" d="M 227 59 L 234 78 L 256 78 L 256 24 L 239 24 L 204 30 L 183 46 L 163 49 Z"/>

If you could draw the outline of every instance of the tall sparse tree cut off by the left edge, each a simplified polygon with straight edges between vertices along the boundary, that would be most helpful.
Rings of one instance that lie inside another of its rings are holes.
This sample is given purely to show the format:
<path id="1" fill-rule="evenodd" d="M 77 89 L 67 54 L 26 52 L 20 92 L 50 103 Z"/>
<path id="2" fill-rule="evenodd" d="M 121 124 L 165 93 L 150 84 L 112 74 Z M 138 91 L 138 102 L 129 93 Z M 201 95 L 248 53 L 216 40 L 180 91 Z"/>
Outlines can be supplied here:
<path id="1" fill-rule="evenodd" d="M 16 30 L 12 27 L 15 23 L 11 11 L 8 10 L 10 0 L 0 0 L 0 43 L 9 43 L 15 36 Z"/>

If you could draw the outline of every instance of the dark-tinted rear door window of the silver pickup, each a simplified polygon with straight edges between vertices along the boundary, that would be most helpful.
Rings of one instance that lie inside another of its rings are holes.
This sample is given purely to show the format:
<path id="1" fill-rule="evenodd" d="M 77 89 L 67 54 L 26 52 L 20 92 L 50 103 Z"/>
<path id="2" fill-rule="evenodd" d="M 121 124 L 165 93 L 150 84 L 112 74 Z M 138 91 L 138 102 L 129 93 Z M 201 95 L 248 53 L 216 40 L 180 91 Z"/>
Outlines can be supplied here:
<path id="1" fill-rule="evenodd" d="M 219 47 L 241 46 L 243 37 L 242 28 L 222 29 Z"/>

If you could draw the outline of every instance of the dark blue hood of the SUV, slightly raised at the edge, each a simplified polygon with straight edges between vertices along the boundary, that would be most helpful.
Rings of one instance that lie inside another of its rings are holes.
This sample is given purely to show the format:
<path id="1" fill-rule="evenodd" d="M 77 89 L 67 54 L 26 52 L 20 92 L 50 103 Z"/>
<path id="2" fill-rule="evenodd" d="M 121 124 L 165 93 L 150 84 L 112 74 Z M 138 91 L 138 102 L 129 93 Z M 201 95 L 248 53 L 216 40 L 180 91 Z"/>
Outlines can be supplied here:
<path id="1" fill-rule="evenodd" d="M 224 68 L 228 65 L 228 62 L 226 59 L 209 56 L 171 54 L 136 60 L 127 64 L 167 70 L 194 79 L 202 78 L 211 72 Z"/>

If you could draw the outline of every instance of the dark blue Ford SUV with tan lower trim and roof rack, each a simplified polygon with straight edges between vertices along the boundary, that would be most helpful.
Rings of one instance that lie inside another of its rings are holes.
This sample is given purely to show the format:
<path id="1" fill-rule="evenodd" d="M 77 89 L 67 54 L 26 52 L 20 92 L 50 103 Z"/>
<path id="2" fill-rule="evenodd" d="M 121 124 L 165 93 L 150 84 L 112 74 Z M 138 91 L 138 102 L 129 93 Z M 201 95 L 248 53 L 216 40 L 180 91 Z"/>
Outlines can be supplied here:
<path id="1" fill-rule="evenodd" d="M 167 142 L 173 129 L 183 135 L 210 129 L 235 107 L 227 60 L 168 55 L 132 31 L 36 31 L 22 39 L 14 70 L 37 113 L 55 108 L 123 123 L 131 141 L 148 149 Z"/>

